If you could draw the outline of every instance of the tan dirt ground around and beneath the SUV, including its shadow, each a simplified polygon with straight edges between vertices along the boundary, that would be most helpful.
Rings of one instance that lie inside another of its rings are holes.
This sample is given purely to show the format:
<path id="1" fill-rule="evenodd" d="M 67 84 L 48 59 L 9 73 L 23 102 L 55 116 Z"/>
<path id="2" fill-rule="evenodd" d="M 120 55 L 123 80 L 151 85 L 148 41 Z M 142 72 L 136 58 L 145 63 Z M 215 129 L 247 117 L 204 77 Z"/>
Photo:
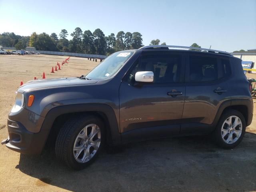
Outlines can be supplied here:
<path id="1" fill-rule="evenodd" d="M 0 140 L 7 138 L 7 117 L 20 81 L 80 76 L 98 62 L 66 56 L 0 55 Z M 256 74 L 250 77 L 256 78 Z M 126 144 L 100 154 L 82 171 L 58 162 L 54 150 L 28 156 L 0 146 L 0 191 L 255 191 L 256 105 L 242 143 L 233 150 L 216 147 L 209 136 L 170 138 Z"/>

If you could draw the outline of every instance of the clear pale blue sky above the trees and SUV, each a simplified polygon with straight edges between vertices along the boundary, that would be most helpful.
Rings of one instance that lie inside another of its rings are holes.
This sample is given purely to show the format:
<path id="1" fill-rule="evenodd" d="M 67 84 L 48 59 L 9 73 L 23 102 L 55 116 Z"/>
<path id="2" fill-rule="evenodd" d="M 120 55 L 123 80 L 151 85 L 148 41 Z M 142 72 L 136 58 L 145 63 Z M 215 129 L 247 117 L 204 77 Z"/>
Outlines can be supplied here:
<path id="1" fill-rule="evenodd" d="M 158 38 L 228 52 L 256 48 L 256 0 L 0 0 L 0 13 L 0 33 L 100 28 L 105 36 L 140 32 L 144 45 Z"/>

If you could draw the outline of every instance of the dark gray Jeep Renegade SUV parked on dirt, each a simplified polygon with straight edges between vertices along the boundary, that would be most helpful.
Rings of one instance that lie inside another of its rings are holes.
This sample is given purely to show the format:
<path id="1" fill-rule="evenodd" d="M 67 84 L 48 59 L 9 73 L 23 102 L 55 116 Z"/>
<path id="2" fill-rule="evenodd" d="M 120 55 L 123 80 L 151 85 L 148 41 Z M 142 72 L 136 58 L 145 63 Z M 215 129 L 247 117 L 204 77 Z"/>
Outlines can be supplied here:
<path id="1" fill-rule="evenodd" d="M 54 144 L 74 169 L 92 163 L 104 144 L 212 134 L 219 146 L 235 147 L 253 113 L 241 60 L 174 47 L 116 52 L 86 76 L 27 82 L 17 90 L 2 144 L 26 154 Z"/>

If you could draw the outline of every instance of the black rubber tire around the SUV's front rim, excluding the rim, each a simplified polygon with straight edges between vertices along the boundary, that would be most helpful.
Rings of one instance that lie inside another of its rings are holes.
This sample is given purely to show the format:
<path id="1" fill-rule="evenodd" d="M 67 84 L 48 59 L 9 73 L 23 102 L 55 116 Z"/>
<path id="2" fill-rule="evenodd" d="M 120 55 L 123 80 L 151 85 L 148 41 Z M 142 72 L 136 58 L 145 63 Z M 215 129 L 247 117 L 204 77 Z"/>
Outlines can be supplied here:
<path id="1" fill-rule="evenodd" d="M 90 160 L 84 163 L 80 163 L 74 157 L 74 142 L 76 141 L 76 137 L 78 136 L 78 134 L 81 133 L 82 129 L 89 124 L 96 124 L 100 128 L 100 146 Z M 62 126 L 60 132 L 58 133 L 55 144 L 56 156 L 61 162 L 66 164 L 66 166 L 75 170 L 82 170 L 90 165 L 92 162 L 94 162 L 94 160 L 98 156 L 100 150 L 102 149 L 102 146 L 104 145 L 105 135 L 106 134 L 104 123 L 97 116 L 81 115 L 72 117 Z"/>

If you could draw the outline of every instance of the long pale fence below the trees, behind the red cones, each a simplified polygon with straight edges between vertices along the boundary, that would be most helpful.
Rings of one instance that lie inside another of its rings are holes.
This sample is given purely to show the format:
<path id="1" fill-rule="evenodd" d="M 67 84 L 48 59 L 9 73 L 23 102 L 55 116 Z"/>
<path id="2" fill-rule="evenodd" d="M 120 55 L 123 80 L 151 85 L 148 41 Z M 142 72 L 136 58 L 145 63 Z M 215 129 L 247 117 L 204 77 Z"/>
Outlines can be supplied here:
<path id="1" fill-rule="evenodd" d="M 105 59 L 107 57 L 106 55 L 70 53 L 70 52 L 59 52 L 59 51 L 36 51 L 36 52 L 39 52 L 40 54 L 46 54 L 46 55 L 66 55 L 66 56 L 98 58 L 98 59 Z"/>

